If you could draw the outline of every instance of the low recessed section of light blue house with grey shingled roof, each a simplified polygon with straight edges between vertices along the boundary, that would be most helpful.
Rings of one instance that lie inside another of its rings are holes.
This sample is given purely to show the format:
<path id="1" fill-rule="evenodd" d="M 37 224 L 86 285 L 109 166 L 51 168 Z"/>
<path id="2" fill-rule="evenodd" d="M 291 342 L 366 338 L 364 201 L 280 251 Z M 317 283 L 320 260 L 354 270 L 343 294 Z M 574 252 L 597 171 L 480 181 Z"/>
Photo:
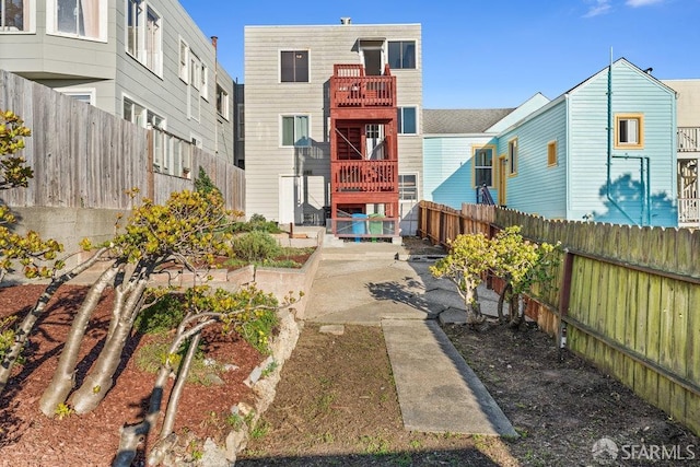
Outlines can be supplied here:
<path id="1" fill-rule="evenodd" d="M 499 132 L 548 102 L 536 94 L 517 108 L 423 109 L 423 199 L 459 209 L 483 184 L 495 198 Z"/>

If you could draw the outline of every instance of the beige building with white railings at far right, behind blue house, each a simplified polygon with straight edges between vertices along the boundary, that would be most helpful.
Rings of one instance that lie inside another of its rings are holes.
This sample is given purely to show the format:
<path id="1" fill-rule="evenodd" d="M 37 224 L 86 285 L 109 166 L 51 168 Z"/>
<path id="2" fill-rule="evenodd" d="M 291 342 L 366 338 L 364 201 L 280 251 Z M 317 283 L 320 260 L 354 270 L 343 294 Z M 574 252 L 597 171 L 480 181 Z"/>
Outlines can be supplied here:
<path id="1" fill-rule="evenodd" d="M 700 79 L 664 80 L 677 98 L 678 225 L 700 227 Z"/>

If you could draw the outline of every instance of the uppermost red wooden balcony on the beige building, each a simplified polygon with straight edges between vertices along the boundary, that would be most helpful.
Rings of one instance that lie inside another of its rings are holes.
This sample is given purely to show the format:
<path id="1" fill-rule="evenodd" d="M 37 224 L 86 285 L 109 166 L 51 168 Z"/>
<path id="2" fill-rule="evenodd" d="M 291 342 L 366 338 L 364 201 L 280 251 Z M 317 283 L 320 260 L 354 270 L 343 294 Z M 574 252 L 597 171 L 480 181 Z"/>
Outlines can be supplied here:
<path id="1" fill-rule="evenodd" d="M 396 77 L 388 66 L 383 75 L 365 75 L 361 65 L 335 65 L 330 78 L 330 107 L 394 107 Z"/>

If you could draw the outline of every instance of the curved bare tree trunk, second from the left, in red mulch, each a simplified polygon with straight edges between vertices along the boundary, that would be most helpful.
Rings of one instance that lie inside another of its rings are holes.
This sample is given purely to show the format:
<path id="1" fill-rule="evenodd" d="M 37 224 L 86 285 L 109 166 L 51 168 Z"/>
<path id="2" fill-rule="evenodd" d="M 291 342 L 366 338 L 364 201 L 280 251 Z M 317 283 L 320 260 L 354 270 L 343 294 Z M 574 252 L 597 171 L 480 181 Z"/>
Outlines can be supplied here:
<path id="1" fill-rule="evenodd" d="M 90 288 L 85 300 L 83 301 L 78 314 L 73 318 L 63 351 L 58 361 L 58 366 L 54 372 L 51 382 L 44 390 L 39 400 L 39 409 L 46 417 L 54 417 L 56 407 L 66 402 L 68 395 L 73 388 L 73 378 L 75 374 L 75 364 L 78 363 L 78 354 L 80 346 L 85 336 L 85 329 L 90 323 L 90 318 L 100 303 L 102 293 L 112 283 L 124 265 L 115 262 L 110 268 L 106 269 Z"/>

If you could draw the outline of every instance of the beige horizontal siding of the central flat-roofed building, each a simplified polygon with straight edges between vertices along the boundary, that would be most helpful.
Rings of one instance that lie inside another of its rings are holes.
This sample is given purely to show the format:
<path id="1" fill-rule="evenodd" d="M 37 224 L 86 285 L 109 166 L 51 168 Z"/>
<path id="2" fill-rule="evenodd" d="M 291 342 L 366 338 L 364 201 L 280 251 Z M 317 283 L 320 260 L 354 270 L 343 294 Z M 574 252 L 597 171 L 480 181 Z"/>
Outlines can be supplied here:
<path id="1" fill-rule="evenodd" d="M 247 26 L 245 36 L 245 166 L 246 215 L 279 218 L 281 175 L 323 176 L 322 194 L 313 180 L 314 206 L 328 205 L 330 176 L 328 83 L 335 63 L 361 63 L 360 37 L 415 40 L 415 70 L 392 70 L 397 77 L 397 106 L 418 108 L 418 135 L 398 137 L 399 172 L 422 179 L 422 71 L 420 25 Z M 281 83 L 282 50 L 308 50 L 310 82 Z M 283 115 L 308 115 L 311 148 L 282 148 Z M 311 205 L 304 200 L 304 205 Z M 317 208 L 312 208 L 317 209 Z"/>

